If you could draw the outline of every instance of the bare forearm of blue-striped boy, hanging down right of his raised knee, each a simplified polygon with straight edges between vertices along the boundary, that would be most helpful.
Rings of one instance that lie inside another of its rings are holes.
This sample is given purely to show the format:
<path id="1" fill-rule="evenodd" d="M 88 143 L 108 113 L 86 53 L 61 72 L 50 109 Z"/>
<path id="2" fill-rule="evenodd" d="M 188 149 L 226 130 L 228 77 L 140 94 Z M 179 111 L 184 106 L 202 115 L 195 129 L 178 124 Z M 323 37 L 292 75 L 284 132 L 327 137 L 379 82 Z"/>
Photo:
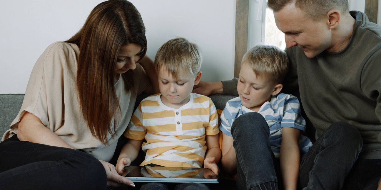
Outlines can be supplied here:
<path id="1" fill-rule="evenodd" d="M 298 141 L 300 130 L 292 127 L 282 128 L 280 146 L 280 170 L 285 190 L 296 190 L 298 185 L 300 152 Z"/>

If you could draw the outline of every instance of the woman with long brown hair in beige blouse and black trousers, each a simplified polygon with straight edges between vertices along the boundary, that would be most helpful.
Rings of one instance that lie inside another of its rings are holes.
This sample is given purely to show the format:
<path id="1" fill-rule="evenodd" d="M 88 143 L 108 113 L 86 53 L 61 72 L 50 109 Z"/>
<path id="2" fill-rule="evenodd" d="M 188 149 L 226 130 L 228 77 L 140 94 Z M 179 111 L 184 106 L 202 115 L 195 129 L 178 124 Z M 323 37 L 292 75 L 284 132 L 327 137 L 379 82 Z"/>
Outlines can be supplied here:
<path id="1" fill-rule="evenodd" d="M 108 161 L 136 96 L 158 92 L 146 47 L 141 16 L 126 0 L 100 3 L 77 34 L 51 44 L 37 60 L 21 110 L 0 143 L 0 186 L 134 187 Z"/>

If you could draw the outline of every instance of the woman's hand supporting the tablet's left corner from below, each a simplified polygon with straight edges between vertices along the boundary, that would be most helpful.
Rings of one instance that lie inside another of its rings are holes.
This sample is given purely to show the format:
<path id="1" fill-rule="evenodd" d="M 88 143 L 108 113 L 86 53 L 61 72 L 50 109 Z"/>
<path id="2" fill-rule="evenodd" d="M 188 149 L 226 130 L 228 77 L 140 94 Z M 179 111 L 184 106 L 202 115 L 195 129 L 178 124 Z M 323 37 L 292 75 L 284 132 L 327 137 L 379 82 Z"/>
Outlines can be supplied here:
<path id="1" fill-rule="evenodd" d="M 129 185 L 131 187 L 135 187 L 135 184 L 127 179 L 126 177 L 120 176 L 115 170 L 114 165 L 108 163 L 107 161 L 99 160 L 104 169 L 106 170 L 107 175 L 107 186 L 111 187 L 120 187 L 122 185 Z"/>

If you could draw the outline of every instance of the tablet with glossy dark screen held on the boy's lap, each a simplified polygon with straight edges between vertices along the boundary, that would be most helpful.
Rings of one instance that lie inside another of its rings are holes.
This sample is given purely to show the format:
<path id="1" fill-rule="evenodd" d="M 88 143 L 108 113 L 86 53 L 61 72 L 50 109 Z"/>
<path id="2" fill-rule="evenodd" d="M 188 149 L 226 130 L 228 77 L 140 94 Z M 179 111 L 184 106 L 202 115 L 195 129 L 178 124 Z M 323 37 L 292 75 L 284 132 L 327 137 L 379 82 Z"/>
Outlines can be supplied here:
<path id="1" fill-rule="evenodd" d="M 123 176 L 133 182 L 218 183 L 217 176 L 208 168 L 127 166 Z"/>

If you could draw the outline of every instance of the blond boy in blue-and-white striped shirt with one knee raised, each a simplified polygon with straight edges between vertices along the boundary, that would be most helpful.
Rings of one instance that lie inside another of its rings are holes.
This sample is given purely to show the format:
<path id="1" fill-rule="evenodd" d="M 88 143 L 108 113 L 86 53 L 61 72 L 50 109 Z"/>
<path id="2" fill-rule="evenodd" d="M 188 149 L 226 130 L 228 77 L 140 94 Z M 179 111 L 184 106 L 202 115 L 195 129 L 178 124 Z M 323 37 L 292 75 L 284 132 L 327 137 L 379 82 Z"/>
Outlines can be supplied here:
<path id="1" fill-rule="evenodd" d="M 275 46 L 258 45 L 243 56 L 239 97 L 226 103 L 219 126 L 221 163 L 237 173 L 239 189 L 278 189 L 282 179 L 285 189 L 297 188 L 300 154 L 312 142 L 301 135 L 306 122 L 298 99 L 280 93 L 287 71 L 287 55 Z"/>

